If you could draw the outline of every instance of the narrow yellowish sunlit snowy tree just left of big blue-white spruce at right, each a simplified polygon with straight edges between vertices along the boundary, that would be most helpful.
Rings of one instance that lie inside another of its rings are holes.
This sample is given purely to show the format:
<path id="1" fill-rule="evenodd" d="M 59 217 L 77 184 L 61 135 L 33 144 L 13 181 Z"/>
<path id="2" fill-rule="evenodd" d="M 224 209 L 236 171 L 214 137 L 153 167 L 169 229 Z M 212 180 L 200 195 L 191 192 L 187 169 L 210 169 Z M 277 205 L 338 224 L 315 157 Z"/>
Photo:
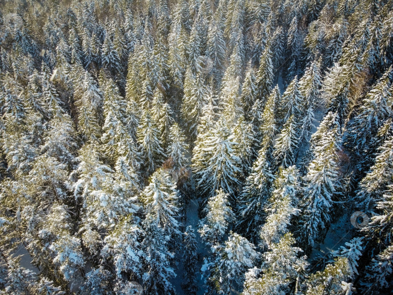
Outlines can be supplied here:
<path id="1" fill-rule="evenodd" d="M 264 206 L 267 217 L 260 232 L 263 248 L 270 248 L 273 243 L 278 243 L 281 236 L 288 232 L 292 216 L 299 213 L 296 209 L 298 190 L 296 167 L 280 168 L 274 180 L 274 191 Z"/>

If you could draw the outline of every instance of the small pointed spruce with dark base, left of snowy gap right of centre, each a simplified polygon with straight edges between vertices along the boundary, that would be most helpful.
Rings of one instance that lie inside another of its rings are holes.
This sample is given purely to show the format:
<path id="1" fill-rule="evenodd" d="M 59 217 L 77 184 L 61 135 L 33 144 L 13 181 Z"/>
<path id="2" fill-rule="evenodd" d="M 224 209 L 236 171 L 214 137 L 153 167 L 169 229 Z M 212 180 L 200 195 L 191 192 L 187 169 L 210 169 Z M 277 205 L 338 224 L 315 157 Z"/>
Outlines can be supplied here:
<path id="1" fill-rule="evenodd" d="M 298 148 L 298 124 L 295 115 L 285 122 L 274 144 L 274 158 L 277 167 L 288 168 L 295 164 L 295 153 Z"/>

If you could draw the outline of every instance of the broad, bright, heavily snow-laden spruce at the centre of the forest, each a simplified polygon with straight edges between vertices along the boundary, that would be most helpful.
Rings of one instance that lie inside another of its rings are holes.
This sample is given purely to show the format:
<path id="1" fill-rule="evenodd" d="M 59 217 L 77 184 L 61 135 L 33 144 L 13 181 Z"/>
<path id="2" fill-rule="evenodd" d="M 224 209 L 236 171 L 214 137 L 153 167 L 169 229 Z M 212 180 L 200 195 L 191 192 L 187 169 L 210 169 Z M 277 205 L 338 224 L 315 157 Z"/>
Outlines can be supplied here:
<path id="1" fill-rule="evenodd" d="M 194 148 L 192 162 L 197 188 L 207 197 L 213 196 L 217 189 L 233 197 L 240 184 L 237 178 L 240 159 L 234 154 L 237 143 L 233 138 L 227 122 L 221 117 L 214 130 Z M 202 163 L 197 162 L 198 157 L 203 159 Z"/>

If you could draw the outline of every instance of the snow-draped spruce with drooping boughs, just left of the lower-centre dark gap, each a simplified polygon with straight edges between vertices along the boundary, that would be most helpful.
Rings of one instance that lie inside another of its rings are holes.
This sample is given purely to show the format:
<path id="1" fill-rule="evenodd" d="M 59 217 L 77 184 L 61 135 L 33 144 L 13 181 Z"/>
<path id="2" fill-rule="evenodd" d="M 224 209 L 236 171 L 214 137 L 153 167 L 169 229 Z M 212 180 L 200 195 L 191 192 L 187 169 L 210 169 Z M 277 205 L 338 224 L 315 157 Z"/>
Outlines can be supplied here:
<path id="1" fill-rule="evenodd" d="M 176 219 L 179 217 L 179 192 L 167 172 L 160 168 L 153 173 L 141 199 L 150 223 L 164 229 L 171 238 L 180 234 Z"/>

